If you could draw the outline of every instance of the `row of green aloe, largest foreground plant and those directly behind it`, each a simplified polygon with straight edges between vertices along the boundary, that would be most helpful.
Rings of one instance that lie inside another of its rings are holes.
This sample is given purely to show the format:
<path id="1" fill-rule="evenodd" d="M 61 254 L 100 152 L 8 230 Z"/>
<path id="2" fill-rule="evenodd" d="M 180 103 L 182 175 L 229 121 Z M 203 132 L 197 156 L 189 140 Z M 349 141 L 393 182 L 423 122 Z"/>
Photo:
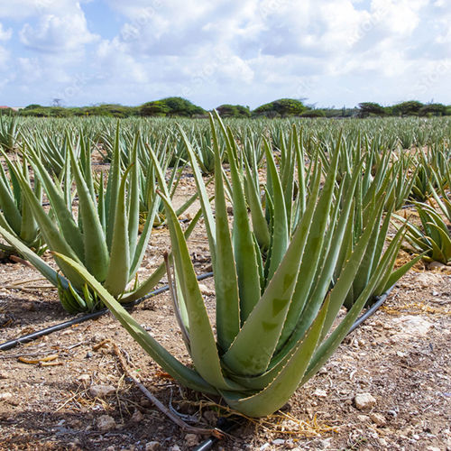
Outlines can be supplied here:
<path id="1" fill-rule="evenodd" d="M 193 146 L 180 130 L 196 180 L 211 253 L 216 334 L 199 290 L 186 236 L 170 201 L 165 174 L 158 157 L 149 150 L 170 230 L 172 255 L 167 260 L 168 267 L 170 263 L 174 266 L 174 310 L 192 367 L 181 363 L 147 334 L 85 266 L 67 255 L 59 254 L 58 258 L 78 272 L 171 376 L 191 389 L 221 395 L 235 410 L 260 417 L 280 409 L 300 384 L 318 372 L 374 290 L 395 281 L 413 262 L 391 272 L 403 229 L 385 251 L 379 249 L 388 224 L 388 220 L 382 221 L 385 200 L 394 186 L 388 176 L 373 189 L 373 202 L 360 207 L 361 228 L 349 227 L 357 210 L 356 194 L 362 183 L 364 161 L 338 183 L 342 140 L 336 143 L 327 170 L 319 155 L 308 170 L 303 169 L 295 129 L 282 152 L 279 168 L 266 142 L 267 173 L 262 196 L 260 182 L 252 174 L 253 162 L 239 152 L 231 130 L 220 120 L 217 124 L 219 136 L 211 119 L 214 207 Z M 223 168 L 221 142 L 225 143 L 230 176 Z M 234 210 L 232 226 L 228 203 Z M 257 229 L 261 231 L 259 237 Z M 342 243 L 352 245 L 343 247 Z M 366 277 L 359 279 L 363 274 Z M 357 279 L 360 286 L 354 287 Z M 336 323 L 351 290 L 353 302 Z"/>

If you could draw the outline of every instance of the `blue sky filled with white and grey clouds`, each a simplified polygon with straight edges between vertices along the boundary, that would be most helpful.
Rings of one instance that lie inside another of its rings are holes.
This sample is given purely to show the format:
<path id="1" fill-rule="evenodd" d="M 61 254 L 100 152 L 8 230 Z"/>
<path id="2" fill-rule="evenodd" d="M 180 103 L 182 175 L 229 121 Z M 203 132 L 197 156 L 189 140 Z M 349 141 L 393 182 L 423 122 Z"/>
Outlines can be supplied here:
<path id="1" fill-rule="evenodd" d="M 451 104 L 451 0 L 0 0 L 0 106 Z"/>

